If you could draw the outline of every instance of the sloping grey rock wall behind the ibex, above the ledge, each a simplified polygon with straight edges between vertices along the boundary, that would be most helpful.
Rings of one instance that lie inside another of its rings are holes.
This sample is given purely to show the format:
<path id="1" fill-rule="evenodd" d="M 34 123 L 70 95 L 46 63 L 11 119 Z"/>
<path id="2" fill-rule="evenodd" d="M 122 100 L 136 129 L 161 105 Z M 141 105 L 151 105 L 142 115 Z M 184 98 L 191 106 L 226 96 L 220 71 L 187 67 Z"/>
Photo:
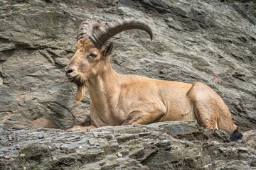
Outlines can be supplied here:
<path id="1" fill-rule="evenodd" d="M 0 124 L 90 124 L 89 96 L 75 103 L 76 87 L 63 69 L 78 25 L 95 16 L 102 23 L 140 18 L 153 30 L 153 41 L 139 30 L 112 38 L 117 72 L 203 81 L 223 97 L 240 129 L 255 129 L 255 18 L 238 7 L 203 0 L 1 1 Z"/>

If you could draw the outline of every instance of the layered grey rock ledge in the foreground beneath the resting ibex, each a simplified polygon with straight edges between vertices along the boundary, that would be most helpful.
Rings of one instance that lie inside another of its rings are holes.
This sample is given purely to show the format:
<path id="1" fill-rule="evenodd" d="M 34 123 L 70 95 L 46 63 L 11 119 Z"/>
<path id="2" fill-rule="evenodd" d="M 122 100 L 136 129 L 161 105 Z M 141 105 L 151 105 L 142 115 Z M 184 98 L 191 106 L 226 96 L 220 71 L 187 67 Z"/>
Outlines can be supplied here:
<path id="1" fill-rule="evenodd" d="M 195 120 L 67 132 L 0 131 L 0 169 L 255 169 L 255 130 L 229 142 Z"/>

